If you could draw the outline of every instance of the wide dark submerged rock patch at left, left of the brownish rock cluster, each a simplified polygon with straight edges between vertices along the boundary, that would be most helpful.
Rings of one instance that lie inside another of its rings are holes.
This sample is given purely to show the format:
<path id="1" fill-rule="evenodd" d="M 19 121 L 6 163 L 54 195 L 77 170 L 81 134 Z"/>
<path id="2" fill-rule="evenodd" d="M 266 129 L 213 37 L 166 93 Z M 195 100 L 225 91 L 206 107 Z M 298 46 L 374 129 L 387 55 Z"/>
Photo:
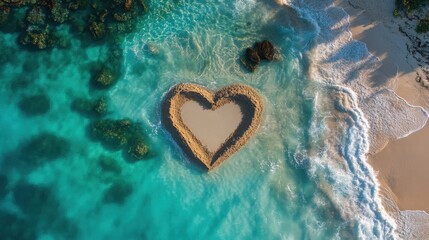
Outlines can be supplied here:
<path id="1" fill-rule="evenodd" d="M 31 164 L 41 164 L 64 157 L 70 150 L 69 142 L 51 133 L 40 133 L 32 137 L 21 148 L 24 160 Z"/>

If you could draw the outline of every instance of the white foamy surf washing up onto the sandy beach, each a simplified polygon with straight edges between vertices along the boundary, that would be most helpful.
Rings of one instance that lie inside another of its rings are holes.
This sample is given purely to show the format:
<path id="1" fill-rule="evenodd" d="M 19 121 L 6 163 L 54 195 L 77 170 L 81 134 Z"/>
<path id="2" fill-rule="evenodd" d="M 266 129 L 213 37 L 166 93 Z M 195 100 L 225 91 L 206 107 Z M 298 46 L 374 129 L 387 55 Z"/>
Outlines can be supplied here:
<path id="1" fill-rule="evenodd" d="M 303 17 L 317 25 L 318 35 L 309 57 L 311 77 L 336 92 L 331 97 L 336 101 L 334 117 L 345 121 L 339 124 L 337 121 L 337 126 L 331 129 L 335 134 L 328 136 L 339 141 L 327 141 L 328 149 L 316 157 L 316 165 L 330 168 L 326 170 L 326 178 L 332 178 L 332 197 L 344 214 L 356 218 L 358 236 L 396 238 L 396 223 L 382 206 L 380 186 L 366 154 L 383 147 L 388 139 L 419 130 L 425 125 L 428 113 L 422 107 L 408 104 L 389 88 L 369 84 L 369 73 L 376 71 L 381 63 L 365 44 L 351 38 L 349 17 L 343 9 L 330 1 L 284 3 L 295 6 Z M 327 109 L 326 105 L 321 108 Z M 338 150 L 339 159 L 345 160 L 342 170 L 335 170 L 336 163 L 332 163 Z"/>

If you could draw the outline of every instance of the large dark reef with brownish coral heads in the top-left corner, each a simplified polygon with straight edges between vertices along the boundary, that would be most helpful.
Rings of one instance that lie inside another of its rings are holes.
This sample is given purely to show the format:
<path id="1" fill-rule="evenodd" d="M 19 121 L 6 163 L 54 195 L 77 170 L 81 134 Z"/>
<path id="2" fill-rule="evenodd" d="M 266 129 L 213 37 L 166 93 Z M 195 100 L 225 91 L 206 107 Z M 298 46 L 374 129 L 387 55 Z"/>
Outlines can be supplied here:
<path id="1" fill-rule="evenodd" d="M 143 0 L 108 1 L 1 1 L 0 29 L 21 32 L 20 43 L 33 49 L 56 47 L 62 25 L 78 38 L 93 40 L 132 32 L 147 11 Z"/>

